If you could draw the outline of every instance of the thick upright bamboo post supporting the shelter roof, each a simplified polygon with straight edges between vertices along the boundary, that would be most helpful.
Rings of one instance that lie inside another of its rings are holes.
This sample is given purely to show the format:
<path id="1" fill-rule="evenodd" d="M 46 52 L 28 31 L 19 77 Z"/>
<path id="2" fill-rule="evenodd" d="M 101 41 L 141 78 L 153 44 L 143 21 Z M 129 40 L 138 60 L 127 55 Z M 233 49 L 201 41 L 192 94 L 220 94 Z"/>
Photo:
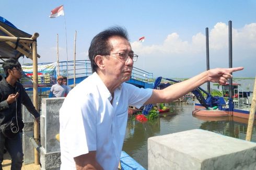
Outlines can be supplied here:
<path id="1" fill-rule="evenodd" d="M 38 111 L 38 60 L 37 60 L 37 37 L 38 33 L 32 35 L 34 40 L 32 43 L 32 56 L 33 56 L 33 104 Z M 39 123 L 34 121 L 34 140 L 39 144 Z M 34 164 L 39 165 L 39 153 L 34 148 Z"/>

